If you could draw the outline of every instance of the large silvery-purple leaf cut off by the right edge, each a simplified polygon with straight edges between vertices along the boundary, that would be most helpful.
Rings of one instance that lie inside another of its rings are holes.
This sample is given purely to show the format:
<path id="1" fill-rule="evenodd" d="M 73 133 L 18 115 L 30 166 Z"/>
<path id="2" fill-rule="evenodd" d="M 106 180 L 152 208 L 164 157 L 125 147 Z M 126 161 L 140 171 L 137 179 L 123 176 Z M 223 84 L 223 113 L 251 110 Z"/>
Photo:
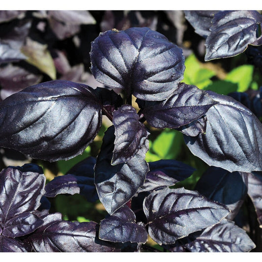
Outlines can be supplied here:
<path id="1" fill-rule="evenodd" d="M 232 97 L 207 92 L 219 104 L 207 111 L 204 134 L 184 136 L 190 151 L 230 172 L 262 170 L 262 123 Z"/>

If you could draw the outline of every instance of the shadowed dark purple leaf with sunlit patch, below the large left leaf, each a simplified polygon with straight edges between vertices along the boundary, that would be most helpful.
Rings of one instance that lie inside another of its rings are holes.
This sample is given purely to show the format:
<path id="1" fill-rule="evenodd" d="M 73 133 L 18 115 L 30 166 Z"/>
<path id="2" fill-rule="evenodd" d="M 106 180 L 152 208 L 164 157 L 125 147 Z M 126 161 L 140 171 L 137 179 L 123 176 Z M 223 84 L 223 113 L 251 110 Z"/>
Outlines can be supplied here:
<path id="1" fill-rule="evenodd" d="M 97 201 L 98 195 L 94 184 L 95 162 L 96 158 L 87 157 L 70 169 L 67 174 L 55 177 L 45 186 L 45 196 L 80 194 L 89 202 Z"/>

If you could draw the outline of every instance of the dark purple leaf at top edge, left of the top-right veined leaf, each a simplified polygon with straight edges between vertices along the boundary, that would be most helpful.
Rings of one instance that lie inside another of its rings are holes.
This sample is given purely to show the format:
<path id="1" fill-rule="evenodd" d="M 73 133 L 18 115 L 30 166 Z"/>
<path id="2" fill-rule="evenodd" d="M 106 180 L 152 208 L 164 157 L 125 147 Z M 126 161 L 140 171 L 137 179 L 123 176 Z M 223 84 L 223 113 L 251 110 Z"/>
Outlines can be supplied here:
<path id="1" fill-rule="evenodd" d="M 210 31 L 209 28 L 212 26 L 212 19 L 214 15 L 219 11 L 213 10 L 188 10 L 185 12 L 185 18 L 195 29 L 195 32 L 206 38 Z"/>

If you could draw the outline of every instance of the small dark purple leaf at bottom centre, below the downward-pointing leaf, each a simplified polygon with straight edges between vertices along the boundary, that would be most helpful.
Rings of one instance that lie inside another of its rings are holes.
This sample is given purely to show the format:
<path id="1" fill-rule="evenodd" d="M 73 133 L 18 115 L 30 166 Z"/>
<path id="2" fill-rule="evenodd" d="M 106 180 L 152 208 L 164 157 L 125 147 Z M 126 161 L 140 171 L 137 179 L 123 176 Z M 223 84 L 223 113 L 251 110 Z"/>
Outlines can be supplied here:
<path id="1" fill-rule="evenodd" d="M 136 223 L 134 212 L 123 205 L 100 222 L 99 238 L 111 242 L 146 243 L 146 227 Z"/>

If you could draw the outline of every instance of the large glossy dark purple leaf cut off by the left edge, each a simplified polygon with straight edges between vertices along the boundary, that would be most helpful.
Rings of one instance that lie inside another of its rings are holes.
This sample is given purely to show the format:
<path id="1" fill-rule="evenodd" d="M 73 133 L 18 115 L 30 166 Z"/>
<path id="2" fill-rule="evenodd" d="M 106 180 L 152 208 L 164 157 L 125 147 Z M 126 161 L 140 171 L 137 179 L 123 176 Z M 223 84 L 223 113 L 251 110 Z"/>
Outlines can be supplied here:
<path id="1" fill-rule="evenodd" d="M 67 160 L 93 141 L 101 111 L 83 84 L 57 80 L 26 87 L 0 103 L 0 146 L 50 162 Z"/>

